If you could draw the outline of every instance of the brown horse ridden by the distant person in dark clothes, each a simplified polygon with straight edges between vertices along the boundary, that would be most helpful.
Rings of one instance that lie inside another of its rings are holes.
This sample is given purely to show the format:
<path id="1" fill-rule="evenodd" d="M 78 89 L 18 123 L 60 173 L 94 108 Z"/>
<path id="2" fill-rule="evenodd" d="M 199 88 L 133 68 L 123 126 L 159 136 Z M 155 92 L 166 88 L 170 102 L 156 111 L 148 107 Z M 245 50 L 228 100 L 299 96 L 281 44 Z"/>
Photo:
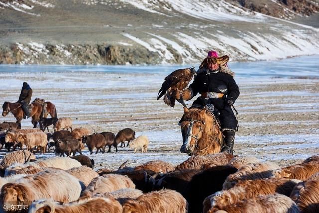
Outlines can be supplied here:
<path id="1" fill-rule="evenodd" d="M 33 107 L 30 112 L 30 116 L 32 117 L 31 122 L 33 124 L 33 128 L 36 128 L 42 113 L 42 106 L 41 104 L 38 104 L 38 103 L 32 103 L 32 105 Z M 21 121 L 24 116 L 24 112 L 21 106 L 22 105 L 20 103 L 11 103 L 7 101 L 5 101 L 2 106 L 3 108 L 2 116 L 6 116 L 7 114 L 9 114 L 9 112 L 11 112 L 16 118 L 16 123 L 19 125 L 20 128 L 21 128 Z"/>

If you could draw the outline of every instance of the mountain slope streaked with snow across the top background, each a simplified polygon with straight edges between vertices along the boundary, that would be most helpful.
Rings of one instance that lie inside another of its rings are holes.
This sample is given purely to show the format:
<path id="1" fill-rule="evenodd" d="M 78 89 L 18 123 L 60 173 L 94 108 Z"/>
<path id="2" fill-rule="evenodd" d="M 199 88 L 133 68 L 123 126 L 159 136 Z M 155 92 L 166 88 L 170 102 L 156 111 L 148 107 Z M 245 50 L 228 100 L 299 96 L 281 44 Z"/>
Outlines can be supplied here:
<path id="1" fill-rule="evenodd" d="M 0 0 L 0 63 L 199 63 L 209 49 L 236 61 L 315 54 L 319 28 L 305 24 L 318 11 L 319 0 Z"/>

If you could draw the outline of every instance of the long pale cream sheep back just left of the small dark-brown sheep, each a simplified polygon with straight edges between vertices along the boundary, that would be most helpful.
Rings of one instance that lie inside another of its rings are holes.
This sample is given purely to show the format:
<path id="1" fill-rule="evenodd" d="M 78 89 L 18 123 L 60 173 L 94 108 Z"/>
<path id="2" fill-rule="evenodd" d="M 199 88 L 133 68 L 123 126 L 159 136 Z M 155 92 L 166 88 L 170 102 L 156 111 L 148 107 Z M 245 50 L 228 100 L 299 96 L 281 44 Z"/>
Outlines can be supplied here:
<path id="1" fill-rule="evenodd" d="M 80 162 L 71 158 L 63 158 L 63 157 L 55 157 L 55 158 L 47 158 L 41 161 L 36 162 L 28 162 L 25 164 L 13 164 L 10 167 L 6 168 L 5 176 L 15 174 L 16 170 L 21 168 L 25 168 L 28 166 L 34 166 L 37 168 L 41 167 L 54 167 L 62 170 L 68 170 L 73 167 L 80 167 L 82 166 Z"/>

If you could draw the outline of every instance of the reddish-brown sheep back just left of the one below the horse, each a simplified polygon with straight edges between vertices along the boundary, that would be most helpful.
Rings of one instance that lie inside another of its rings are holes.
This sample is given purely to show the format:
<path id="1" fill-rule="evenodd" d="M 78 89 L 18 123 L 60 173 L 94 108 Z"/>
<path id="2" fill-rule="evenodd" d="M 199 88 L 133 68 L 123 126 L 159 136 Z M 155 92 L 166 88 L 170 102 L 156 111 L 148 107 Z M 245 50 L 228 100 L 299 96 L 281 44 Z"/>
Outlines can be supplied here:
<path id="1" fill-rule="evenodd" d="M 136 166 L 134 170 L 151 170 L 155 173 L 167 173 L 173 171 L 175 167 L 165 161 L 148 161 L 145 164 Z"/>

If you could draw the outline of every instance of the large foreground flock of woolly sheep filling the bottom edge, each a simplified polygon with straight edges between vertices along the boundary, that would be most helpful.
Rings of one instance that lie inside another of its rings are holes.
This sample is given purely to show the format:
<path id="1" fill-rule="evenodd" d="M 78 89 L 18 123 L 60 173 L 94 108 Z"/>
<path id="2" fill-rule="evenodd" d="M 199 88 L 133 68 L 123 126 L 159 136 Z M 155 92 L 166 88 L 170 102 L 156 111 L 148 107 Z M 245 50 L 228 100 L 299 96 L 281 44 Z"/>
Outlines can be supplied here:
<path id="1" fill-rule="evenodd" d="M 0 162 L 0 212 L 318 213 L 319 155 L 280 168 L 218 153 L 177 166 L 150 161 L 90 168 L 87 156 L 37 160 L 27 150 Z"/>

